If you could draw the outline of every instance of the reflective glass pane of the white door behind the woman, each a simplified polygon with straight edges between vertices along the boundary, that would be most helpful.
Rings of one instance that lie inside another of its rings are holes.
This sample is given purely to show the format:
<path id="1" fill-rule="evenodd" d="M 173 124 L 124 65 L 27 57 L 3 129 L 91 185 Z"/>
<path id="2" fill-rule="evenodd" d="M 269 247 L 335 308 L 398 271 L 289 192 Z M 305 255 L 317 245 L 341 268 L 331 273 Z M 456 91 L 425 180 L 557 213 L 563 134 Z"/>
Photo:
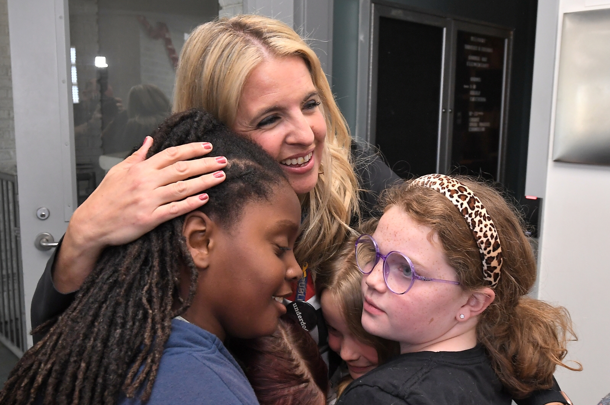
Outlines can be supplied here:
<path id="1" fill-rule="evenodd" d="M 218 2 L 69 0 L 68 6 L 80 205 L 170 114 L 178 55 L 188 34 L 218 15 Z"/>

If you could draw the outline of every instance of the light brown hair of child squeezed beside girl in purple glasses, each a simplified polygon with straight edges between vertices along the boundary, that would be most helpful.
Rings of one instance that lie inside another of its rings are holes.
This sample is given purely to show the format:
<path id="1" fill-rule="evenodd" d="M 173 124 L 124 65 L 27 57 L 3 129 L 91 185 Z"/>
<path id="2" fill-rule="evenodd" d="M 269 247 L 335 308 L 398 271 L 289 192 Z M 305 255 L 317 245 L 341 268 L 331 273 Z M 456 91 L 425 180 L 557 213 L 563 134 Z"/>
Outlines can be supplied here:
<path id="1" fill-rule="evenodd" d="M 377 227 L 377 219 L 364 222 L 357 229 L 357 234 L 372 234 Z M 337 252 L 337 255 L 320 266 L 316 279 L 316 293 L 321 297 L 322 292 L 328 290 L 339 304 L 345 322 L 358 340 L 365 345 L 374 347 L 377 351 L 379 364 L 384 364 L 389 359 L 400 354 L 400 345 L 393 340 L 387 340 L 379 336 L 373 336 L 362 327 L 362 273 L 356 264 L 357 236 L 351 236 Z M 337 395 L 352 381 L 346 376 L 337 385 Z"/>

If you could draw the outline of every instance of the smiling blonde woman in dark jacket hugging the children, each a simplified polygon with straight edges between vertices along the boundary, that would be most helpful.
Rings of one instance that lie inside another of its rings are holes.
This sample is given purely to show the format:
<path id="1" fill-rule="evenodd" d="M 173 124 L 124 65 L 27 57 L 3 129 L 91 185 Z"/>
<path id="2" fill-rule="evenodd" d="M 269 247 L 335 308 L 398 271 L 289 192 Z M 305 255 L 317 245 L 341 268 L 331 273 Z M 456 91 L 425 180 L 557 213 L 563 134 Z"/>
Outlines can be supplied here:
<path id="1" fill-rule="evenodd" d="M 398 179 L 351 141 L 320 61 L 280 21 L 241 15 L 197 27 L 182 48 L 175 88 L 174 111 L 203 108 L 281 164 L 303 210 L 295 254 L 310 269 L 348 236 L 361 208 L 359 188 L 365 189 L 362 208 L 369 210 Z M 226 159 L 191 160 L 213 145 L 188 144 L 144 160 L 151 143 L 146 138 L 113 167 L 74 212 L 38 283 L 32 326 L 70 305 L 104 248 L 198 208 L 208 198 L 203 191 L 224 180 Z"/>

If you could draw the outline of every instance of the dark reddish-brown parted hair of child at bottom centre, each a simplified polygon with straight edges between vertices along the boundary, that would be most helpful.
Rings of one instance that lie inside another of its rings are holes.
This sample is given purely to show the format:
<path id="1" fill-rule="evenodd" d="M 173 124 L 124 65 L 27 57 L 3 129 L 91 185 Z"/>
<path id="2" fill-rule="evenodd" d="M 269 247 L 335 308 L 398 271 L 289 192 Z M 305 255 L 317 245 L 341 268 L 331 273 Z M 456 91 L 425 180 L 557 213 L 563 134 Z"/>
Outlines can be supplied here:
<path id="1" fill-rule="evenodd" d="M 229 350 L 242 365 L 260 405 L 326 402 L 326 363 L 314 338 L 289 315 L 279 319 L 273 335 L 231 339 Z"/>

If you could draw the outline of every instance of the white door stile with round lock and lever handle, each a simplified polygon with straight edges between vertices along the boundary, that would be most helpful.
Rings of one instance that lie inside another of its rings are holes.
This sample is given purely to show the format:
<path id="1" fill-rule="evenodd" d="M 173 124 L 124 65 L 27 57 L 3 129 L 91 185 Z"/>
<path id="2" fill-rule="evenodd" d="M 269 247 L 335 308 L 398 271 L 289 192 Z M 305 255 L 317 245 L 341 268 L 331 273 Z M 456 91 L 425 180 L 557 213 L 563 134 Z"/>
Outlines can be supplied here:
<path id="1" fill-rule="evenodd" d="M 8 0 L 15 111 L 23 293 L 26 330 L 30 303 L 52 250 L 41 252 L 42 232 L 56 240 L 76 207 L 74 124 L 67 0 Z M 46 206 L 45 220 L 36 210 Z M 28 345 L 32 337 L 28 336 Z"/>

